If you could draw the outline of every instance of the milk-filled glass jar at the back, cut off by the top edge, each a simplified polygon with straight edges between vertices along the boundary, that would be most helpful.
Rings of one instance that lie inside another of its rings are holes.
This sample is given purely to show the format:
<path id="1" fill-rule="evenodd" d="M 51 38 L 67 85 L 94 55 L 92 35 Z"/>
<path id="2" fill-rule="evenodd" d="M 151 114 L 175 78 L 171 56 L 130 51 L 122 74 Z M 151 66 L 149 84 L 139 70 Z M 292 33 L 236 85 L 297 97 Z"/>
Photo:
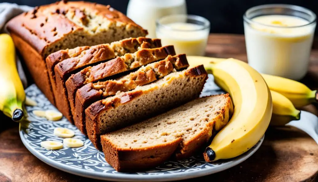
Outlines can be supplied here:
<path id="1" fill-rule="evenodd" d="M 127 16 L 156 38 L 156 20 L 172 14 L 187 14 L 185 0 L 129 0 Z"/>

